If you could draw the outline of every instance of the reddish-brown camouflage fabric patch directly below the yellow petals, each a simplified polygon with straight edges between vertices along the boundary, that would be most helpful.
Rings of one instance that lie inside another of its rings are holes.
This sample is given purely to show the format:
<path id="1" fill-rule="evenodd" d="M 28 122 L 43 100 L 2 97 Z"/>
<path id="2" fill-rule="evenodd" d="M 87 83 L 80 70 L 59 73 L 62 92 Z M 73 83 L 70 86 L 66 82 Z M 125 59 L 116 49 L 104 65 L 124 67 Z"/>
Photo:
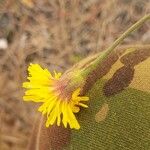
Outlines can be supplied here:
<path id="1" fill-rule="evenodd" d="M 43 122 L 39 136 L 39 149 L 62 150 L 70 143 L 70 138 L 70 129 L 56 125 L 46 128 L 45 122 Z"/>

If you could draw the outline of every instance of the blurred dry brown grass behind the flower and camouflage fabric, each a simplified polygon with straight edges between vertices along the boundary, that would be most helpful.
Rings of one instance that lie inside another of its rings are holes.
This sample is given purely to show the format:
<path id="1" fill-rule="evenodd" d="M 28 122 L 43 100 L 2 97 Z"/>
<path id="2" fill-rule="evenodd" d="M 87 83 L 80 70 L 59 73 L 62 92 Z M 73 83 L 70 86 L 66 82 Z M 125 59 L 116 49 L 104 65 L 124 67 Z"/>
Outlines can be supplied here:
<path id="1" fill-rule="evenodd" d="M 40 115 L 22 100 L 29 63 L 64 72 L 150 12 L 149 0 L 0 0 L 0 150 L 25 150 Z M 123 45 L 150 44 L 150 24 Z"/>

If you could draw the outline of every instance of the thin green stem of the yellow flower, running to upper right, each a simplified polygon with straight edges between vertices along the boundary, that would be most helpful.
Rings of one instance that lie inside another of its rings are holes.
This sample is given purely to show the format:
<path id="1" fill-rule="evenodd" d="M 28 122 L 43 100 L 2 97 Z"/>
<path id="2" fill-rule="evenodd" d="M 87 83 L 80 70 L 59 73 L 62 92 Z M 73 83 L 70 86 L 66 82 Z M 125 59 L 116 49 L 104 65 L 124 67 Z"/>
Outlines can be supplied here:
<path id="1" fill-rule="evenodd" d="M 84 70 L 82 70 L 82 75 L 86 76 L 87 74 L 89 74 L 92 70 L 94 70 L 100 63 L 102 63 L 105 59 L 108 58 L 108 56 L 110 55 L 110 53 L 112 53 L 114 51 L 114 49 L 123 42 L 123 40 L 129 36 L 133 31 L 137 30 L 138 28 L 140 28 L 147 20 L 150 20 L 150 14 L 145 15 L 143 18 L 141 18 L 139 21 L 137 21 L 135 24 L 133 24 L 127 31 L 125 31 L 116 41 L 114 41 L 114 43 L 108 47 L 104 53 L 101 53 L 96 59 L 95 61 L 93 61 L 93 63 L 91 64 L 90 67 L 85 68 Z"/>

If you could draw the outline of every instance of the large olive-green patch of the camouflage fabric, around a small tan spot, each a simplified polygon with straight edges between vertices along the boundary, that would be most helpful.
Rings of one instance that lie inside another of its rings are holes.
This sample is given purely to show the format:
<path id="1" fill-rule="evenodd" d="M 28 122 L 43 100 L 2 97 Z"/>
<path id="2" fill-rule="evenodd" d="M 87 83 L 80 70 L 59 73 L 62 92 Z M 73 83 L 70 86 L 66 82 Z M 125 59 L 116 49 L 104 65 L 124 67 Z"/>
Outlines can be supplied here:
<path id="1" fill-rule="evenodd" d="M 99 80 L 89 91 L 89 109 L 78 115 L 81 129 L 72 130 L 66 149 L 149 150 L 150 93 L 128 88 L 108 98 L 103 94 L 105 82 Z M 104 103 L 109 110 L 98 123 L 95 115 Z"/>

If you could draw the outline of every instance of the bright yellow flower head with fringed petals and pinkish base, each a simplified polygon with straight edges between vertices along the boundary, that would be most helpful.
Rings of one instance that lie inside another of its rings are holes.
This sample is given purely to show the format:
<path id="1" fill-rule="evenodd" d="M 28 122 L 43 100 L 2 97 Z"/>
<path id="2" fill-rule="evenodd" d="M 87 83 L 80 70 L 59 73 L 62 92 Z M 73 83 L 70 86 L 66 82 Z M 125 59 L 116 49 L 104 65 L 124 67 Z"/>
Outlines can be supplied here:
<path id="1" fill-rule="evenodd" d="M 79 106 L 88 106 L 81 101 L 88 101 L 86 96 L 79 96 L 80 88 L 75 90 L 67 87 L 68 80 L 62 79 L 61 73 L 54 71 L 54 76 L 47 70 L 42 69 L 38 64 L 30 64 L 29 82 L 24 82 L 23 87 L 27 89 L 23 99 L 43 103 L 39 107 L 42 114 L 47 114 L 46 127 L 63 123 L 67 128 L 79 129 L 80 125 L 74 115 L 79 112 Z"/>

